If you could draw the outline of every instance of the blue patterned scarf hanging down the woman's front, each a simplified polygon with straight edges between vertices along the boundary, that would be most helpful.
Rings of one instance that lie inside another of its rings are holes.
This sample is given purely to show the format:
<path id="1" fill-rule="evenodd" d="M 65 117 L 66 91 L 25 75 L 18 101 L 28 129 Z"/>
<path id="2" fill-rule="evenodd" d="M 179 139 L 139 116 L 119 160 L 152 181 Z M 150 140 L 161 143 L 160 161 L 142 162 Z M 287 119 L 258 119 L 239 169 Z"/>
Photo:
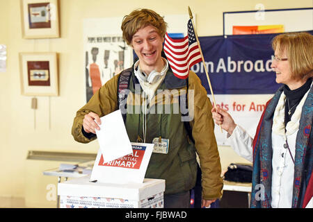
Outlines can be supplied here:
<path id="1" fill-rule="evenodd" d="M 253 174 L 250 207 L 271 207 L 272 180 L 272 125 L 276 105 L 282 94 L 282 87 L 266 103 L 265 111 L 257 126 L 253 140 Z M 294 190 L 292 207 L 303 207 L 312 197 L 313 166 L 313 87 L 303 104 L 299 131 L 296 136 L 296 155 L 294 166 Z M 311 180 L 311 181 L 310 181 Z M 310 182 L 310 183 L 309 183 Z M 309 186 L 308 186 L 309 185 Z M 305 200 L 305 201 L 303 201 Z M 305 202 L 305 203 L 304 203 Z"/>

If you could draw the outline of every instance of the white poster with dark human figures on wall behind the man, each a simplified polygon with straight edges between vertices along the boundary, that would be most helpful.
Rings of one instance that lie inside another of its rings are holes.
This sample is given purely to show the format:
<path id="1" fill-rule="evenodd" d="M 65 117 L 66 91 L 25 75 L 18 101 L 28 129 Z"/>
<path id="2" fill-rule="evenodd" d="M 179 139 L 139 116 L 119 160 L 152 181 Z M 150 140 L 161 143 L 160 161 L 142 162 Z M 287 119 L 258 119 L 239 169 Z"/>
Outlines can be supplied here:
<path id="1" fill-rule="evenodd" d="M 122 17 L 83 21 L 83 58 L 86 102 L 108 80 L 131 67 L 133 50 L 122 39 Z"/>

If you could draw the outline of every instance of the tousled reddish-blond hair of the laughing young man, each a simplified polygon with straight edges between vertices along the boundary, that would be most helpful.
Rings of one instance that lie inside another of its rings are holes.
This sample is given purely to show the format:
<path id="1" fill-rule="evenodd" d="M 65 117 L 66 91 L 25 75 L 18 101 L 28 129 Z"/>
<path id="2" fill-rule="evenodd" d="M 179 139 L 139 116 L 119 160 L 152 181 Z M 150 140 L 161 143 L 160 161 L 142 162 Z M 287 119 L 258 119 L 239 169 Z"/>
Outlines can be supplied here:
<path id="1" fill-rule="evenodd" d="M 166 34 L 166 22 L 157 12 L 150 9 L 137 9 L 132 11 L 129 15 L 123 18 L 122 26 L 123 39 L 131 46 L 133 35 L 145 26 L 154 26 L 161 37 Z"/>

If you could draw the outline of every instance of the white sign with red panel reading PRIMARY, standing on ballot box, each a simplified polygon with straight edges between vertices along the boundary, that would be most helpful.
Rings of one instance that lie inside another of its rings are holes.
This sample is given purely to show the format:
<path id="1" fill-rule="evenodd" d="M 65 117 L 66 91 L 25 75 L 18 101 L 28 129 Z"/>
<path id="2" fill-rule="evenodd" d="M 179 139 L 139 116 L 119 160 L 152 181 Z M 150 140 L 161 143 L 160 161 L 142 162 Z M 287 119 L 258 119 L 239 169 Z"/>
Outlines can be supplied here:
<path id="1" fill-rule="evenodd" d="M 131 145 L 133 153 L 106 163 L 99 149 L 90 180 L 116 184 L 142 183 L 154 144 L 131 143 Z"/>

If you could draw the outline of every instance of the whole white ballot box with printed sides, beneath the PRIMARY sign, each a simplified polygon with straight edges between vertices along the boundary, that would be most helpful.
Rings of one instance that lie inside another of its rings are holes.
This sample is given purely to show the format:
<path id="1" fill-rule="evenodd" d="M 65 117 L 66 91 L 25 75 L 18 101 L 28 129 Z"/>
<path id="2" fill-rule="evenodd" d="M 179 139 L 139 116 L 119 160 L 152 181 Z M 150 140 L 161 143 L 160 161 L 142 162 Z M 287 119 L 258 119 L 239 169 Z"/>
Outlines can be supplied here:
<path id="1" fill-rule="evenodd" d="M 90 176 L 58 184 L 61 208 L 163 208 L 165 180 L 114 184 L 90 182 Z"/>

